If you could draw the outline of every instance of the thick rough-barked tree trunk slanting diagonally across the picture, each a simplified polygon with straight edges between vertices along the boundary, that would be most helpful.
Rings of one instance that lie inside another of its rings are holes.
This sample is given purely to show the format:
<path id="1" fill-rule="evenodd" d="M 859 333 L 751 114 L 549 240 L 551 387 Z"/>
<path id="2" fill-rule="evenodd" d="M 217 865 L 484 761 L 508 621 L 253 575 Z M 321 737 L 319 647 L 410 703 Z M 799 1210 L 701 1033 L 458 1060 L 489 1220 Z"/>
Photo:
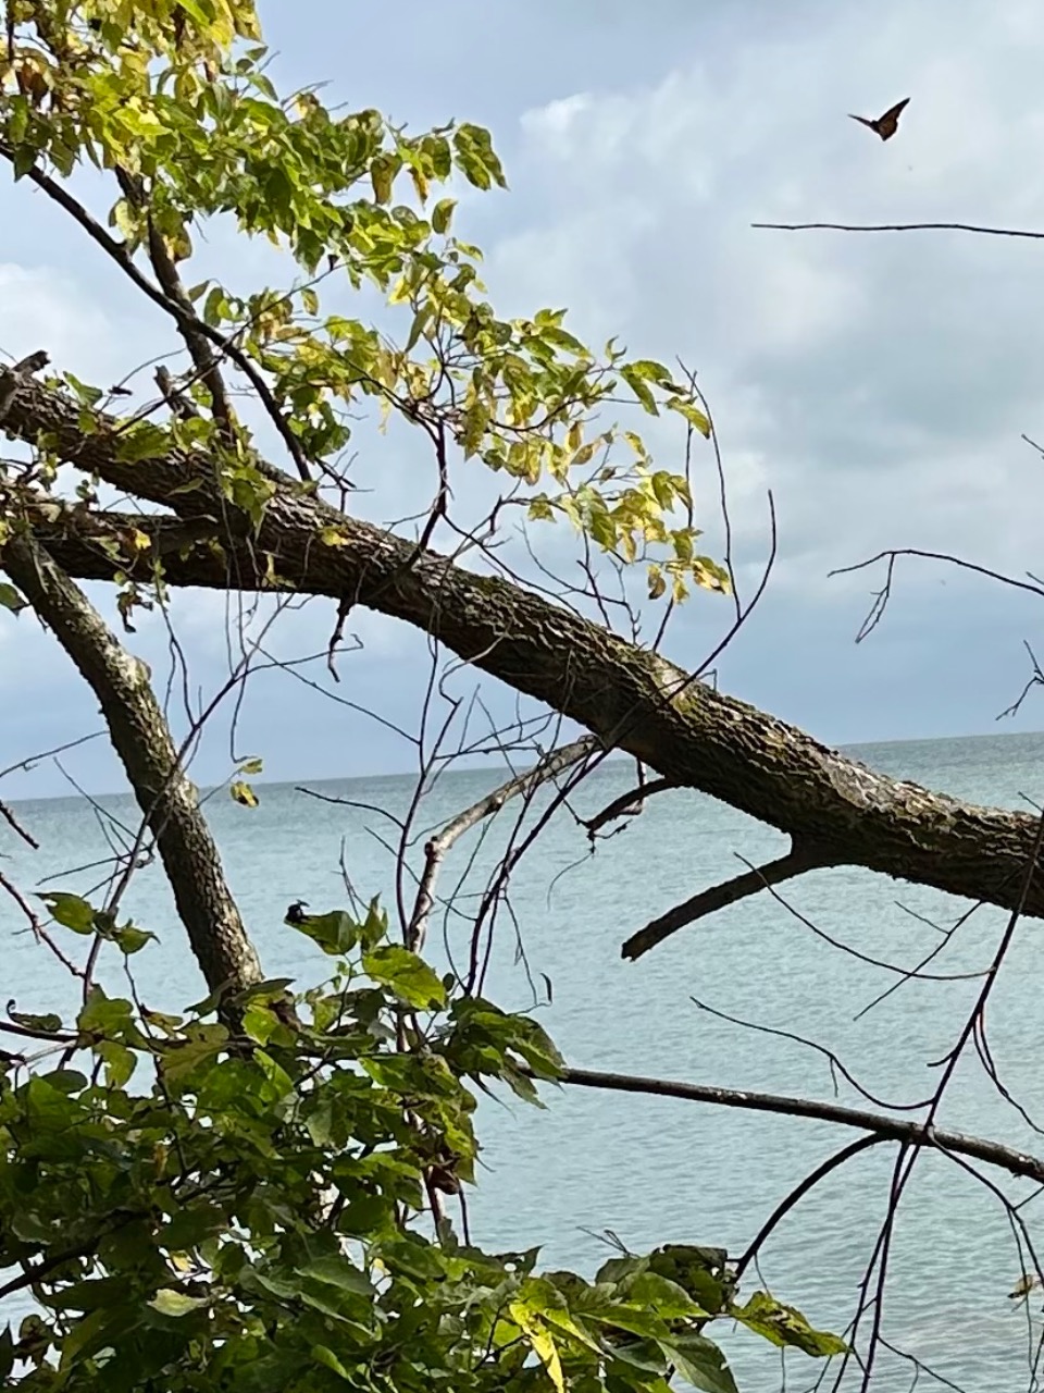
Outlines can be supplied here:
<path id="1" fill-rule="evenodd" d="M 213 479 L 206 456 L 120 462 L 104 418 L 84 435 L 78 410 L 31 380 L 21 382 L 4 428 L 29 440 L 45 430 L 71 462 L 180 514 L 150 521 L 84 514 L 40 525 L 40 542 L 74 575 L 111 578 L 116 564 L 100 543 L 135 527 L 164 553 L 171 584 L 285 588 L 370 606 L 437 635 L 466 662 L 675 783 L 778 827 L 805 851 L 820 848 L 824 862 L 1015 905 L 1037 827 L 1029 814 L 960 802 L 874 773 L 734 696 L 688 684 L 672 663 L 537 595 L 433 552 L 418 556 L 409 542 L 345 517 L 276 469 L 276 493 L 248 542 L 206 518 L 224 522 L 224 504 L 206 482 Z M 174 492 L 189 482 L 192 490 Z M 341 545 L 320 540 L 329 527 Z M 220 540 L 200 540 L 207 534 Z M 274 585 L 266 579 L 267 556 Z M 146 574 L 148 553 L 139 566 Z M 1026 912 L 1044 917 L 1044 878 L 1036 878 Z"/>

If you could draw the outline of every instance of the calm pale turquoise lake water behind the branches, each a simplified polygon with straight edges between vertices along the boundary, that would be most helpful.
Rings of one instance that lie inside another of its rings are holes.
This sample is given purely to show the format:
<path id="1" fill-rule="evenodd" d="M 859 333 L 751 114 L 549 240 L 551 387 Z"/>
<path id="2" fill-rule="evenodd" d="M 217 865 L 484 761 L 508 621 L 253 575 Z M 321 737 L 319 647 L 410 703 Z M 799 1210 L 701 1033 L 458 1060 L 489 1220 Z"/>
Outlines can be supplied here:
<path id="1" fill-rule="evenodd" d="M 1044 802 L 1044 736 L 860 747 L 856 756 L 888 773 L 959 797 L 1005 807 Z M 422 826 L 434 826 L 501 781 L 497 770 L 443 777 L 423 805 Z M 603 766 L 575 798 L 590 815 L 628 788 L 628 763 Z M 409 779 L 312 784 L 327 797 L 397 811 L 412 791 Z M 226 862 L 263 960 L 266 975 L 320 981 L 326 963 L 283 926 L 290 901 L 312 912 L 344 903 L 338 861 L 365 896 L 393 892 L 393 859 L 377 836 L 394 833 L 377 814 L 317 801 L 291 786 L 259 786 L 260 807 L 235 805 L 227 794 L 207 804 Z M 134 825 L 129 800 L 106 798 L 113 815 Z M 31 853 L 0 823 L 4 872 L 32 889 L 58 871 L 110 854 L 99 818 L 72 800 L 22 802 L 18 814 L 42 850 Z M 469 871 L 464 893 L 480 889 L 515 827 L 508 805 L 484 840 L 472 834 L 447 862 L 448 894 Z M 786 901 L 814 925 L 802 924 L 767 893 L 683 929 L 639 963 L 619 956 L 622 940 L 647 919 L 700 887 L 785 850 L 785 839 L 700 794 L 674 791 L 649 801 L 626 830 L 590 854 L 586 833 L 560 812 L 516 872 L 511 911 L 494 935 L 487 995 L 501 1006 L 528 1009 L 529 975 L 553 983 L 553 1004 L 539 1010 L 568 1061 L 576 1067 L 656 1074 L 729 1088 L 798 1094 L 863 1105 L 827 1059 L 777 1035 L 756 1034 L 693 1004 L 834 1050 L 860 1084 L 888 1105 L 926 1098 L 933 1068 L 952 1046 L 979 992 L 959 974 L 990 961 L 1006 917 L 980 910 L 949 939 L 931 971 L 951 979 L 906 981 L 859 1014 L 899 978 L 888 967 L 913 967 L 941 942 L 937 925 L 967 908 L 937 892 L 889 882 L 869 872 L 818 872 L 781 887 Z M 470 869 L 469 869 L 470 862 Z M 97 871 L 61 882 L 86 892 Z M 461 901 L 466 910 L 469 901 Z M 205 993 L 173 914 L 161 872 L 134 880 L 127 907 L 160 943 L 134 960 L 143 1000 L 180 1010 Z M 21 932 L 14 905 L 0 897 L 6 963 L 3 999 L 24 1010 L 70 1007 L 70 979 L 46 950 Z M 818 933 L 816 931 L 820 931 Z M 448 921 L 451 949 L 462 950 L 468 925 Z M 988 1038 L 999 1075 L 1029 1113 L 1020 1116 L 986 1077 L 973 1052 L 962 1060 L 938 1116 L 940 1126 L 988 1135 L 1044 1153 L 1043 928 L 1025 922 L 990 1002 Z M 834 943 L 827 942 L 828 935 Z M 441 921 L 433 925 L 438 957 Z M 79 943 L 74 943 L 79 949 Z M 519 946 L 525 963 L 519 961 Z M 438 964 L 441 965 L 441 963 Z M 118 961 L 106 983 L 117 989 Z M 954 979 L 956 978 L 956 979 Z M 607 1255 L 606 1230 L 632 1250 L 665 1241 L 707 1243 L 741 1252 L 775 1204 L 817 1163 L 857 1134 L 818 1121 L 739 1112 L 702 1103 L 632 1095 L 555 1091 L 540 1112 L 521 1103 L 483 1102 L 479 1113 L 484 1169 L 469 1198 L 473 1237 L 491 1247 L 543 1244 L 551 1266 L 592 1272 Z M 835 1172 L 802 1201 L 761 1254 L 760 1277 L 813 1323 L 844 1329 L 888 1204 L 895 1151 L 873 1148 Z M 991 1173 L 1005 1194 L 1033 1187 Z M 1044 1251 L 1044 1197 L 1022 1211 Z M 1008 1300 L 1022 1272 L 1002 1205 L 972 1174 L 940 1155 L 923 1155 L 903 1195 L 888 1266 L 883 1333 L 887 1340 L 969 1393 L 1031 1386 L 1030 1362 L 1041 1305 Z M 0 1325 L 15 1309 L 0 1309 Z M 810 1389 L 823 1365 L 800 1353 L 785 1364 L 745 1332 L 721 1332 L 745 1393 Z M 909 1389 L 917 1369 L 883 1351 L 873 1386 Z M 835 1371 L 823 1387 L 832 1386 Z M 920 1371 L 919 1387 L 942 1387 Z M 845 1387 L 857 1386 L 846 1379 Z"/>

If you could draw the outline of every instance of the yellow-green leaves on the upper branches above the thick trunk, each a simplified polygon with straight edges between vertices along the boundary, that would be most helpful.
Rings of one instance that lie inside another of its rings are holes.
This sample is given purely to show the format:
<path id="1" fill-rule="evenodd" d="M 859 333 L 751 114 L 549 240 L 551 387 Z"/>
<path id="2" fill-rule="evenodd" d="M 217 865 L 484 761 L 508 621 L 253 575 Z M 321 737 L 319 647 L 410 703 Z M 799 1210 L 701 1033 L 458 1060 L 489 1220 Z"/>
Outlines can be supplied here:
<path id="1" fill-rule="evenodd" d="M 725 570 L 699 552 L 686 478 L 657 468 L 633 430 L 596 419 L 631 403 L 709 436 L 693 389 L 615 343 L 594 354 L 561 309 L 504 320 L 484 299 L 482 254 L 452 234 L 448 192 L 505 187 L 484 130 L 411 135 L 374 110 L 330 111 L 313 91 L 281 99 L 248 0 L 10 0 L 8 20 L 0 153 L 15 178 L 53 188 L 85 164 L 114 171 L 117 235 L 82 209 L 74 216 L 121 265 L 159 249 L 167 308 L 182 326 L 198 313 L 219 359 L 234 348 L 249 361 L 301 460 L 333 468 L 351 439 L 348 412 L 369 400 L 430 437 L 440 488 L 455 450 L 458 464 L 507 475 L 530 518 L 567 517 L 606 553 L 646 560 L 653 598 L 668 578 L 675 599 L 693 582 L 728 589 Z M 288 290 L 207 280 L 175 293 L 193 230 L 216 216 L 287 249 L 302 277 Z M 324 313 L 331 276 L 376 288 L 398 337 Z M 103 396 L 72 378 L 65 389 L 85 407 Z M 205 372 L 184 390 L 217 407 Z M 124 423 L 127 460 L 171 444 L 223 453 L 227 497 L 260 521 L 271 483 L 242 422 L 230 442 L 217 410 L 161 428 L 146 415 Z"/>

